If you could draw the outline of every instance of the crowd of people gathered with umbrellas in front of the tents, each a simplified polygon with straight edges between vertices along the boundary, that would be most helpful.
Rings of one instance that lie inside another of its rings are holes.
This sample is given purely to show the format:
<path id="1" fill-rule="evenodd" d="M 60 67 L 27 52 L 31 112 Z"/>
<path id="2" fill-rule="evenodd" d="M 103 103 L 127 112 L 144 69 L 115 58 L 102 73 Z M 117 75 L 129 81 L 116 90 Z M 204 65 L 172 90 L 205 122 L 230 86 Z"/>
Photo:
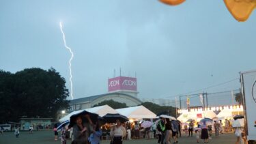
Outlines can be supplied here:
<path id="1" fill-rule="evenodd" d="M 220 136 L 224 132 L 229 130 L 229 121 L 225 120 L 225 127 L 223 127 L 221 121 L 214 121 L 212 124 L 197 123 L 195 121 L 189 121 L 189 123 L 181 123 L 177 120 L 171 120 L 168 118 L 160 117 L 160 120 L 153 123 L 148 128 L 143 128 L 139 121 L 130 123 L 129 121 L 124 123 L 116 120 L 115 125 L 104 124 L 100 126 L 98 121 L 91 121 L 89 115 L 85 116 L 87 123 L 83 123 L 82 117 L 76 117 L 76 124 L 72 126 L 72 143 L 91 143 L 98 144 L 102 139 L 109 139 L 113 144 L 122 144 L 124 139 L 157 139 L 158 143 L 170 144 L 178 143 L 180 136 L 193 136 L 197 143 L 200 139 L 204 143 L 209 143 L 209 139 L 212 139 L 212 133 L 215 133 L 215 137 Z M 182 132 L 183 131 L 183 132 Z M 236 129 L 236 133 L 242 133 L 239 128 Z M 57 130 L 55 130 L 55 136 Z M 55 139 L 57 139 L 55 137 Z M 61 143 L 66 144 L 66 128 L 61 129 Z"/>

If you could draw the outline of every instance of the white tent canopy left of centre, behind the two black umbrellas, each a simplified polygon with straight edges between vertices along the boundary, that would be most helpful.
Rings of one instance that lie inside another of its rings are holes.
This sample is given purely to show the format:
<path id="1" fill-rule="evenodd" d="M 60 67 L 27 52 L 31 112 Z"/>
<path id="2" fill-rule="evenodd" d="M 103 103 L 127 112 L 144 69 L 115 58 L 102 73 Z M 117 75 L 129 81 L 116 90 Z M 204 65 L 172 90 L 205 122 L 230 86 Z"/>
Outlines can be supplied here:
<path id="1" fill-rule="evenodd" d="M 70 117 L 76 113 L 80 113 L 81 111 L 88 111 L 90 113 L 96 113 L 98 115 L 100 115 L 101 117 L 103 115 L 106 115 L 106 113 L 117 113 L 117 111 L 115 111 L 115 109 L 111 108 L 111 106 L 109 105 L 104 105 L 104 106 L 96 106 L 94 108 L 89 108 L 89 109 L 83 109 L 83 110 L 79 110 L 79 111 L 73 111 L 72 113 L 66 115 L 65 117 L 62 117 L 61 119 L 59 119 L 60 122 L 66 121 L 66 120 L 70 120 Z"/>

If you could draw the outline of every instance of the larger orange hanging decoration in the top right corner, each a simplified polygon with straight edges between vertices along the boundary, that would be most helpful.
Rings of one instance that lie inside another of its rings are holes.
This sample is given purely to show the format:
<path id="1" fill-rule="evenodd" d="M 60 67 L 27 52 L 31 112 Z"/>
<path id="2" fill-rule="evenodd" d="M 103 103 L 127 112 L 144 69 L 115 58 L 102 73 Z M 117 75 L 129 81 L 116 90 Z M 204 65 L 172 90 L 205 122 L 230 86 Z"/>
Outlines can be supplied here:
<path id="1" fill-rule="evenodd" d="M 256 0 L 224 0 L 227 9 L 238 21 L 246 21 L 256 8 Z"/>

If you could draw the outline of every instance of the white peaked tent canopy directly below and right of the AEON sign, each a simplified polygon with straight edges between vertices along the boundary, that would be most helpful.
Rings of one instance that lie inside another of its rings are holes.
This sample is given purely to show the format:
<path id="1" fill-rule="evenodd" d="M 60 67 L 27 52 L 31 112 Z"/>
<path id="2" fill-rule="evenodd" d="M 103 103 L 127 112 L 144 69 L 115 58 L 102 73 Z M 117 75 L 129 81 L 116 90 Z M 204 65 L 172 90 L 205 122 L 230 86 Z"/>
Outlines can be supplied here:
<path id="1" fill-rule="evenodd" d="M 129 119 L 154 119 L 156 114 L 154 114 L 149 109 L 144 106 L 132 106 L 124 109 L 116 109 L 118 113 L 128 117 Z"/>

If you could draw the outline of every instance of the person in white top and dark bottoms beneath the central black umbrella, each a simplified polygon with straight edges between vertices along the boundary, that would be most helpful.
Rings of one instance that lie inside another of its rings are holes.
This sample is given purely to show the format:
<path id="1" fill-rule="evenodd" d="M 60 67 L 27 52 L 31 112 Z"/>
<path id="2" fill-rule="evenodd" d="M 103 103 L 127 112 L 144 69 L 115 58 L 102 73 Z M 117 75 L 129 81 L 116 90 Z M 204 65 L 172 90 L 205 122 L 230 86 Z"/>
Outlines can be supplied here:
<path id="1" fill-rule="evenodd" d="M 126 136 L 126 129 L 121 125 L 121 121 L 117 119 L 116 125 L 111 128 L 110 132 L 113 137 L 113 144 L 122 144 L 123 138 Z"/>

